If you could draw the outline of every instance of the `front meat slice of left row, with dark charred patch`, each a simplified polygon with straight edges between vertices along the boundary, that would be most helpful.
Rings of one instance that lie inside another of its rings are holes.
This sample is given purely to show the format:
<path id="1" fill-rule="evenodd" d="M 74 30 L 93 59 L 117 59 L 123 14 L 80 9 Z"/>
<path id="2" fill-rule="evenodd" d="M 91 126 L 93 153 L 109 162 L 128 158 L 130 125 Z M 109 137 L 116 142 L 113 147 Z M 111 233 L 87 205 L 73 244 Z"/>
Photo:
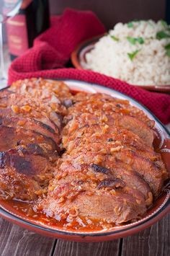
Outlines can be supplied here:
<path id="1" fill-rule="evenodd" d="M 4 199 L 35 200 L 46 191 L 53 167 L 29 150 L 0 152 L 0 192 Z"/>

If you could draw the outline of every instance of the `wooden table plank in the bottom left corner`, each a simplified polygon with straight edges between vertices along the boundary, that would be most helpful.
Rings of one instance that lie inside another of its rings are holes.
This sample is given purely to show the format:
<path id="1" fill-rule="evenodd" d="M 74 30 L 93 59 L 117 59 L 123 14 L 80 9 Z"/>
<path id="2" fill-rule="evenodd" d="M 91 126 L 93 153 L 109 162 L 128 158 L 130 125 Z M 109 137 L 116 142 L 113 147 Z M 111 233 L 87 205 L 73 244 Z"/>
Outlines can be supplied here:
<path id="1" fill-rule="evenodd" d="M 42 237 L 0 218 L 1 256 L 48 256 L 55 239 Z"/>

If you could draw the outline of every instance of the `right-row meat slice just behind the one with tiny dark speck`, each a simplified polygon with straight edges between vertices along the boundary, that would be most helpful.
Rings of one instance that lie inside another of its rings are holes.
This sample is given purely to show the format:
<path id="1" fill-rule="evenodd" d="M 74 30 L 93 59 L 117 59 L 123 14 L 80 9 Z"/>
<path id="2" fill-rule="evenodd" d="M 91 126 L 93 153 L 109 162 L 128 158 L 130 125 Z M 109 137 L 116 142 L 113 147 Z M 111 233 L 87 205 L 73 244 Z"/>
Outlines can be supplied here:
<path id="1" fill-rule="evenodd" d="M 91 129 L 92 125 L 104 125 L 104 129 L 110 131 L 112 128 L 123 128 L 128 131 L 131 131 L 139 138 L 143 140 L 143 143 L 147 146 L 152 146 L 153 144 L 153 131 L 148 128 L 145 123 L 141 122 L 136 118 L 132 118 L 128 115 L 119 115 L 113 113 L 112 115 L 99 115 L 94 114 L 81 114 L 74 117 L 72 120 L 68 122 L 66 127 L 63 129 L 63 136 L 73 136 L 75 133 L 75 137 L 77 136 L 77 132 L 79 133 L 80 128 L 87 128 L 86 130 Z"/>

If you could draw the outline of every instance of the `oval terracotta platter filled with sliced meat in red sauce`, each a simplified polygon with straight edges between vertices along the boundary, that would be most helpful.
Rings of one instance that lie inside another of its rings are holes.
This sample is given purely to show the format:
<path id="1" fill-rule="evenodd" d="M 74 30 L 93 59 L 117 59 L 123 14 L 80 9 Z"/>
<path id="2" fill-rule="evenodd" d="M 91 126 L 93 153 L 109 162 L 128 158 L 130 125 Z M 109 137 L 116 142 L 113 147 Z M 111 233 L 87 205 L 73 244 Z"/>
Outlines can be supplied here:
<path id="1" fill-rule="evenodd" d="M 24 79 L 0 92 L 0 216 L 101 242 L 170 210 L 170 137 L 146 107 L 83 81 Z"/>

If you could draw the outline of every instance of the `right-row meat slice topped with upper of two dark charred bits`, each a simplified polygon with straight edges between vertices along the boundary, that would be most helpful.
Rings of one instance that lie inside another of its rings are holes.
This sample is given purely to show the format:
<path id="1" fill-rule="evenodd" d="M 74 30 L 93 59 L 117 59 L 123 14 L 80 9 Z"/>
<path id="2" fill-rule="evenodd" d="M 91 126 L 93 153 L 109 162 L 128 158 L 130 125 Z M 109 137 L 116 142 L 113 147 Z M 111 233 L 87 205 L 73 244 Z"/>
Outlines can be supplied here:
<path id="1" fill-rule="evenodd" d="M 60 172 L 56 173 L 56 177 L 61 180 L 61 177 L 65 178 L 67 175 L 68 177 L 71 177 L 71 173 L 73 172 L 75 173 L 75 177 L 78 177 L 79 172 L 81 172 L 81 178 L 79 178 L 79 180 L 84 182 L 89 182 L 89 179 L 93 180 L 94 184 L 92 187 L 95 187 L 95 184 L 97 186 L 97 183 L 99 183 L 101 180 L 105 181 L 115 178 L 121 179 L 122 182 L 125 182 L 125 185 L 127 185 L 130 189 L 139 190 L 146 200 L 146 205 L 151 205 L 153 200 L 151 187 L 145 180 L 143 180 L 143 177 L 141 177 L 137 172 L 133 171 L 133 169 L 127 169 L 125 167 L 123 168 L 123 166 L 115 166 L 111 169 L 106 167 L 109 165 L 108 162 L 107 165 L 104 165 L 104 162 L 101 162 L 103 165 L 99 165 L 94 164 L 92 161 L 96 162 L 97 157 L 94 156 L 93 160 L 89 159 L 89 162 L 86 161 L 86 164 L 81 164 L 82 162 L 84 163 L 84 159 L 81 155 L 77 157 L 66 156 L 66 159 L 63 159 L 63 162 L 61 163 Z"/>

